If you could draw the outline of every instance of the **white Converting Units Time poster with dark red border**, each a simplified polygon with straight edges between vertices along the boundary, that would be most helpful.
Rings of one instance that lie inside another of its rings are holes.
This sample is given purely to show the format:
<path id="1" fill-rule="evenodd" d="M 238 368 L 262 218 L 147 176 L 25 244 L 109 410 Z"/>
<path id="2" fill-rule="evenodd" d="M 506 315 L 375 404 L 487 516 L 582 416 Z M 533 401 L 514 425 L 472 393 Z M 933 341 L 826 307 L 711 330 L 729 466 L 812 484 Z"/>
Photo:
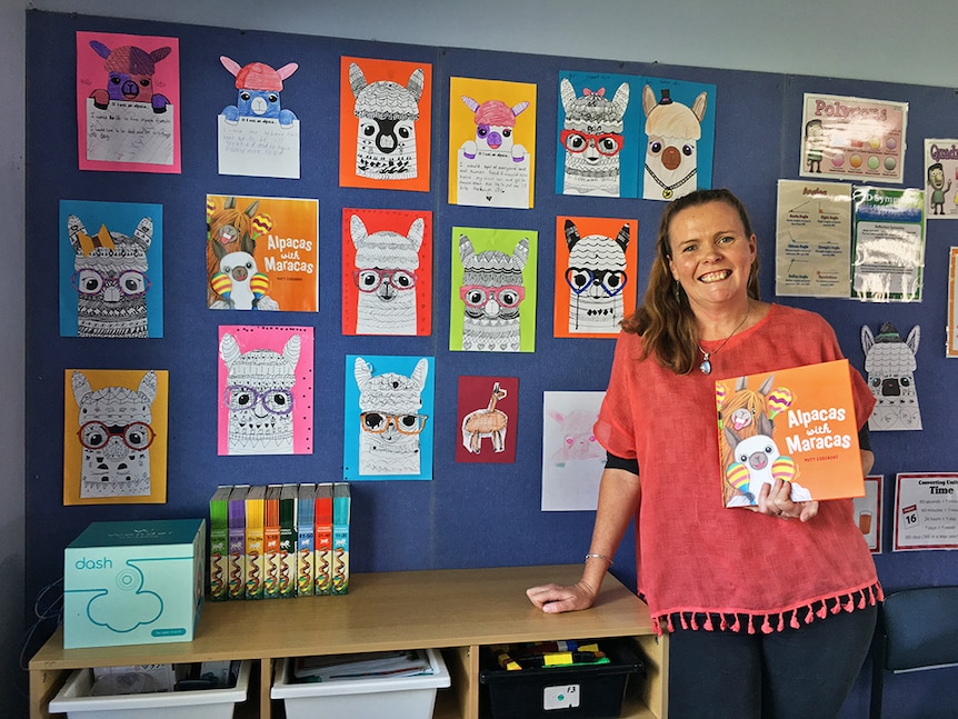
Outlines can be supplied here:
<path id="1" fill-rule="evenodd" d="M 897 475 L 894 549 L 958 549 L 958 475 Z"/>

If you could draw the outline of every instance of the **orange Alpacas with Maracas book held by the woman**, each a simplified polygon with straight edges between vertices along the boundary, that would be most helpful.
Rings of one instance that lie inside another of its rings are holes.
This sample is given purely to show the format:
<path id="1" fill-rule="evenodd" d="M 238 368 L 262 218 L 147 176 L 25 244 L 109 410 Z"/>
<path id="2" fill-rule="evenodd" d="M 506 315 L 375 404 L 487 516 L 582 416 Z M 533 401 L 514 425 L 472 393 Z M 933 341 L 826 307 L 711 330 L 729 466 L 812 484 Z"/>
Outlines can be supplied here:
<path id="1" fill-rule="evenodd" d="M 862 497 L 848 360 L 716 381 L 726 507 L 754 507 L 762 485 L 791 500 Z"/>

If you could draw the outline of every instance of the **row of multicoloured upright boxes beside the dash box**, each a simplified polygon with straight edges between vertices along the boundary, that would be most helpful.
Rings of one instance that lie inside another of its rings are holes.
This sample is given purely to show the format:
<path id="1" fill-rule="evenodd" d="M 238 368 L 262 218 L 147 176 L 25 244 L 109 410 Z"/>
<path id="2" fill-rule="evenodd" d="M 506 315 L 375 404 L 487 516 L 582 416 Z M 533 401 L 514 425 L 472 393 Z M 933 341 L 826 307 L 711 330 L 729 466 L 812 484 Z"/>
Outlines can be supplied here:
<path id="1" fill-rule="evenodd" d="M 221 485 L 210 498 L 210 599 L 349 591 L 349 482 Z"/>

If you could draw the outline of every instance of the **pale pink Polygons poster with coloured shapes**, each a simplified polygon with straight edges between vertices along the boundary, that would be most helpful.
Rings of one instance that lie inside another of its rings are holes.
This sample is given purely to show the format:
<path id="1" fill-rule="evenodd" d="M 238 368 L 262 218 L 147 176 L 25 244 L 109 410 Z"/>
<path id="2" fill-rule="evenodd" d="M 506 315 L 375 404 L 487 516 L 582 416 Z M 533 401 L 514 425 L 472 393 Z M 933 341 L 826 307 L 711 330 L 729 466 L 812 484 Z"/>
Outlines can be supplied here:
<path id="1" fill-rule="evenodd" d="M 901 182 L 907 102 L 805 93 L 799 176 Z"/>

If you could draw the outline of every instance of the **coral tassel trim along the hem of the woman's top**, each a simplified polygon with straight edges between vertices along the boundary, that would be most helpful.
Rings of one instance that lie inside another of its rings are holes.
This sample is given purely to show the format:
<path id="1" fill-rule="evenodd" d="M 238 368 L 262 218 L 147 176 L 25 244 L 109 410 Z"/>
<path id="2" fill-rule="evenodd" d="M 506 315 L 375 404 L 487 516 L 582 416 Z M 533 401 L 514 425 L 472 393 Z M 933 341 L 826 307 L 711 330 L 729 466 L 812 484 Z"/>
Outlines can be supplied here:
<path id="1" fill-rule="evenodd" d="M 878 582 L 869 585 L 864 589 L 852 592 L 819 599 L 802 607 L 786 609 L 770 613 L 750 612 L 702 612 L 702 611 L 675 611 L 652 617 L 652 629 L 656 635 L 673 632 L 676 625 L 682 629 L 705 631 L 747 631 L 754 635 L 758 631 L 770 635 L 776 631 L 785 631 L 785 628 L 799 629 L 802 623 L 810 625 L 818 619 L 825 619 L 828 615 L 837 615 L 841 611 L 852 612 L 856 609 L 874 607 L 885 599 L 881 586 Z"/>

